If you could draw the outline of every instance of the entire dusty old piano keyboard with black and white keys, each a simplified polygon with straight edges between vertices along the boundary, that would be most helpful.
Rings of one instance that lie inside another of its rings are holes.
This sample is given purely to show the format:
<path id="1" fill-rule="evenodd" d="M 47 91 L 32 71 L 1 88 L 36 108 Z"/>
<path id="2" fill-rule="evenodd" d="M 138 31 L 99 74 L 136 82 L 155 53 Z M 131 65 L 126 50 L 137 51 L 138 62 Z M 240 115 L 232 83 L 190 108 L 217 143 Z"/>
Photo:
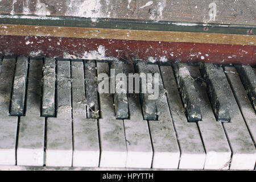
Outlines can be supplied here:
<path id="1" fill-rule="evenodd" d="M 98 93 L 110 68 L 159 73 L 159 98 Z M 255 169 L 255 75 L 245 65 L 4 57 L 0 165 Z"/>

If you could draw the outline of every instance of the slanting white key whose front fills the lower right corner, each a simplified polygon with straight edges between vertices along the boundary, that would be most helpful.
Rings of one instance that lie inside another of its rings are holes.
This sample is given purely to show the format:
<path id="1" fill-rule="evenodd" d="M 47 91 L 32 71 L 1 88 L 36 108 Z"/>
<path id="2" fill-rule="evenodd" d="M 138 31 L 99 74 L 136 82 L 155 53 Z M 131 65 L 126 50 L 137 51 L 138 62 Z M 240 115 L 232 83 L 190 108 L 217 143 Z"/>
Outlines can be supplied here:
<path id="1" fill-rule="evenodd" d="M 256 160 L 256 150 L 247 130 L 245 121 L 233 96 L 228 80 L 222 68 L 216 68 L 218 75 L 222 75 L 225 86 L 222 88 L 228 99 L 230 122 L 222 123 L 226 136 L 228 137 L 232 149 L 232 163 L 230 169 L 254 169 Z"/>

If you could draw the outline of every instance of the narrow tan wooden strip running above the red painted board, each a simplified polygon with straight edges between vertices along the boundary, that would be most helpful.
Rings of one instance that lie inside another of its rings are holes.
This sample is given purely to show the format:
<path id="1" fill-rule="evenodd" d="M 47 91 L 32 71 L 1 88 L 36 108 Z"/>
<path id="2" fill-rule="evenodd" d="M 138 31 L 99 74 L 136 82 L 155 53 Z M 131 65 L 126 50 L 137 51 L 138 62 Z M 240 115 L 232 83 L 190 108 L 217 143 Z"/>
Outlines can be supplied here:
<path id="1" fill-rule="evenodd" d="M 213 34 L 201 32 L 123 30 L 111 28 L 27 26 L 1 24 L 0 35 L 55 36 L 65 38 L 97 38 L 118 40 L 147 40 L 210 44 L 256 45 L 255 35 Z"/>

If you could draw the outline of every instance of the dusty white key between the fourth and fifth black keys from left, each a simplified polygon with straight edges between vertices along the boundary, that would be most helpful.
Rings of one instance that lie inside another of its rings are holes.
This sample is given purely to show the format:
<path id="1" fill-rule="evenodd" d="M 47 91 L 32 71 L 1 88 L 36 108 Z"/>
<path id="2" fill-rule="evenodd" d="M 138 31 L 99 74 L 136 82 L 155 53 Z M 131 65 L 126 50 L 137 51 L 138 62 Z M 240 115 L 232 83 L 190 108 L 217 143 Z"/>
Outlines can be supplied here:
<path id="1" fill-rule="evenodd" d="M 126 76 L 134 73 L 133 64 L 123 64 L 123 69 Z M 153 151 L 148 124 L 147 121 L 143 121 L 139 94 L 130 93 L 127 98 L 130 120 L 124 120 L 127 146 L 126 167 L 151 168 Z"/>

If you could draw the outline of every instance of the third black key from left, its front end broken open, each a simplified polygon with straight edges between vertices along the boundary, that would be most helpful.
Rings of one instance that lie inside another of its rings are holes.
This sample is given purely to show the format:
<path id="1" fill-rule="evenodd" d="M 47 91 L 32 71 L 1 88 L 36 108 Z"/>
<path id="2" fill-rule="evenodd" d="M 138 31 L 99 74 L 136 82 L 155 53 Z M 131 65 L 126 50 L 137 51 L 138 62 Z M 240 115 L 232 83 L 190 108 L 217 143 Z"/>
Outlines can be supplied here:
<path id="1" fill-rule="evenodd" d="M 85 95 L 87 118 L 100 118 L 100 107 L 98 105 L 97 71 L 94 60 L 84 61 Z"/>

